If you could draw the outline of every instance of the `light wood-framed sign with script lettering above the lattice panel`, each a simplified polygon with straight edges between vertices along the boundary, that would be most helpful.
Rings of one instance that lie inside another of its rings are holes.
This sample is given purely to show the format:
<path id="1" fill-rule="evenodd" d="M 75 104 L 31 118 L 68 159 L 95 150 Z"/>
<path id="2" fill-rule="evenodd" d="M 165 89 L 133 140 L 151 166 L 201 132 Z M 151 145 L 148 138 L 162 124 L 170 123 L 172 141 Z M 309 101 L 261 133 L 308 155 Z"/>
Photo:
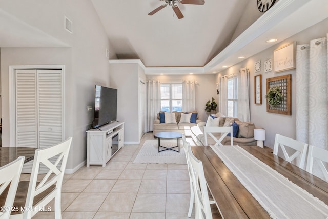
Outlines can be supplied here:
<path id="1" fill-rule="evenodd" d="M 281 72 L 296 67 L 296 42 L 273 51 L 274 72 Z"/>

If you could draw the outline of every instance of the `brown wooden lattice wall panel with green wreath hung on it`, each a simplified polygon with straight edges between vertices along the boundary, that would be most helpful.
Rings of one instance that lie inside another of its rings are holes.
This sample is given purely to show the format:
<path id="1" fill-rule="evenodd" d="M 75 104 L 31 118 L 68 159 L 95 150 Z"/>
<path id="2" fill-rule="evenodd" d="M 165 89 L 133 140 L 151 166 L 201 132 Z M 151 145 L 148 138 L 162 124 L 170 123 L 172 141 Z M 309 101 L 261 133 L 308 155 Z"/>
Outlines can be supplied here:
<path id="1" fill-rule="evenodd" d="M 269 91 L 273 92 L 273 96 L 268 96 Z M 278 92 L 278 93 L 277 93 Z M 270 99 L 281 96 L 279 103 L 270 105 Z M 283 75 L 267 79 L 267 112 L 273 112 L 283 115 L 292 114 L 292 75 Z"/>

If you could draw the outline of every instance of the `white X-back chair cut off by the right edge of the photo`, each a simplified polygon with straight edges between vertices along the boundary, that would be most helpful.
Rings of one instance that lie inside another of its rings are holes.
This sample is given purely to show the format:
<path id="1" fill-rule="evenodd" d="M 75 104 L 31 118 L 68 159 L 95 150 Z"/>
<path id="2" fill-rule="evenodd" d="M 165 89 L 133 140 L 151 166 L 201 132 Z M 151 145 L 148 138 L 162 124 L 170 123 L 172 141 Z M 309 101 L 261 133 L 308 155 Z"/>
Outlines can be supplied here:
<path id="1" fill-rule="evenodd" d="M 315 160 L 324 175 L 325 181 L 328 182 L 328 171 L 325 166 L 325 164 L 328 163 L 328 151 L 314 145 L 309 145 L 308 162 L 306 164 L 306 171 L 309 173 L 313 171 L 313 163 Z"/>

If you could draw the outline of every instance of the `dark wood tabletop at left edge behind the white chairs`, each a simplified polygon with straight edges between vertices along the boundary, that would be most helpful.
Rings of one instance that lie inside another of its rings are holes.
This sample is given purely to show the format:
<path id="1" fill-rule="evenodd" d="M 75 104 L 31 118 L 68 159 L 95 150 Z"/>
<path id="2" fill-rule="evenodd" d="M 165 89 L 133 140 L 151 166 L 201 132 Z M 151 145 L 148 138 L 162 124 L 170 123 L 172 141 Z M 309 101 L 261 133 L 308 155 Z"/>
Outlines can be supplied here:
<path id="1" fill-rule="evenodd" d="M 0 147 L 0 167 L 16 160 L 19 156 L 25 156 L 25 161 L 29 162 L 34 159 L 36 148 L 27 147 Z"/>

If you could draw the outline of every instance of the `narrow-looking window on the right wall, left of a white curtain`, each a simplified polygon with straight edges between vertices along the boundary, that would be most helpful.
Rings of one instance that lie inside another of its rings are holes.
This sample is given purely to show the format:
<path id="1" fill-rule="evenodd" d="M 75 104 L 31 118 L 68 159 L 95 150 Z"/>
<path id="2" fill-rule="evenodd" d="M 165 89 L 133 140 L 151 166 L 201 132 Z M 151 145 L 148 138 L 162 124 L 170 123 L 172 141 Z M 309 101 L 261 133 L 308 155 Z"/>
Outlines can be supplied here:
<path id="1" fill-rule="evenodd" d="M 228 79 L 228 116 L 238 117 L 238 78 Z"/>

